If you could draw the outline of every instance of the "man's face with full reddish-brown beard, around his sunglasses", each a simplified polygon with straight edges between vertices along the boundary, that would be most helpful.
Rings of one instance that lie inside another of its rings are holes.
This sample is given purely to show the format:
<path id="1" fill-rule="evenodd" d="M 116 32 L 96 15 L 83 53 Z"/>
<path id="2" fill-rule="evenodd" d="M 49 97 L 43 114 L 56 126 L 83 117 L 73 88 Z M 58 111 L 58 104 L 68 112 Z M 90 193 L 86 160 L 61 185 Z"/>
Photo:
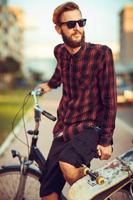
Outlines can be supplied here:
<path id="1" fill-rule="evenodd" d="M 78 10 L 73 10 L 64 12 L 60 22 L 78 21 L 81 19 L 81 13 Z M 64 43 L 71 48 L 80 47 L 85 40 L 84 28 L 80 27 L 78 23 L 73 28 L 68 28 L 67 24 L 62 24 L 60 31 Z"/>

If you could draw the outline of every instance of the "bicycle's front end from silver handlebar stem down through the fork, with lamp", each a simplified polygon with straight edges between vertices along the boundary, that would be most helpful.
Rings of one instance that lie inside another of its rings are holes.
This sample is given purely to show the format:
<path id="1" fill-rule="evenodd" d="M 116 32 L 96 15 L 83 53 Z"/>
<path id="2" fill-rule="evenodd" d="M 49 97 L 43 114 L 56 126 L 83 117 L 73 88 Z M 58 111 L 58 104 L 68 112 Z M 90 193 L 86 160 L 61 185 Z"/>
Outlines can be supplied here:
<path id="1" fill-rule="evenodd" d="M 39 122 L 41 120 L 41 114 L 45 115 L 47 118 L 55 121 L 56 118 L 51 115 L 50 113 L 42 110 L 38 104 L 38 98 L 37 96 L 41 95 L 41 91 L 32 91 L 30 93 L 34 97 L 34 121 L 35 121 L 35 129 L 34 130 L 28 130 L 27 133 L 29 135 L 32 135 L 31 140 L 31 146 L 30 146 L 30 152 L 28 157 L 23 157 L 19 152 L 16 150 L 12 150 L 12 156 L 13 158 L 18 157 L 20 162 L 20 180 L 19 180 L 19 186 L 17 189 L 17 194 L 14 198 L 14 200 L 21 200 L 23 199 L 24 191 L 25 191 L 25 185 L 26 185 L 26 179 L 27 179 L 27 172 L 29 167 L 31 168 L 33 162 L 35 161 L 38 165 L 36 169 L 34 169 L 34 172 L 36 171 L 37 176 L 40 177 L 44 173 L 45 170 L 45 157 L 41 153 L 41 151 L 37 147 L 37 141 L 38 141 L 38 135 L 39 135 Z M 39 179 L 39 180 L 40 180 Z"/>

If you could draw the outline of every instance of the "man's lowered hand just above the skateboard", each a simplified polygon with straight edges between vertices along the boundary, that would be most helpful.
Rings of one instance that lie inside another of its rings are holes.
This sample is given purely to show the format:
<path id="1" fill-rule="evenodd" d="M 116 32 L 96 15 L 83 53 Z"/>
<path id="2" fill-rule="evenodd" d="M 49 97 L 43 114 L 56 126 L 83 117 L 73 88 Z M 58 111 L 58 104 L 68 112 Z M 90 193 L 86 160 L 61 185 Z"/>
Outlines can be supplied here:
<path id="1" fill-rule="evenodd" d="M 101 160 L 108 160 L 112 154 L 112 146 L 97 145 L 98 155 Z"/>

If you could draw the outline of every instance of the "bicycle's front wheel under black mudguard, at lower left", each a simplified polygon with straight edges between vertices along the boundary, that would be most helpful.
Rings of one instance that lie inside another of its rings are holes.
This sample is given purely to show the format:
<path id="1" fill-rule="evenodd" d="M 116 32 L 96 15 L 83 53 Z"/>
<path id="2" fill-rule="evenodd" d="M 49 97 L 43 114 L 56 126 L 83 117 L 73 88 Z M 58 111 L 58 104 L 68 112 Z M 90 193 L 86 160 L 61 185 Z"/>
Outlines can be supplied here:
<path id="1" fill-rule="evenodd" d="M 24 187 L 23 200 L 39 200 L 40 174 L 28 168 Z M 4 166 L 0 168 L 0 199 L 15 200 L 20 181 L 20 166 Z"/>

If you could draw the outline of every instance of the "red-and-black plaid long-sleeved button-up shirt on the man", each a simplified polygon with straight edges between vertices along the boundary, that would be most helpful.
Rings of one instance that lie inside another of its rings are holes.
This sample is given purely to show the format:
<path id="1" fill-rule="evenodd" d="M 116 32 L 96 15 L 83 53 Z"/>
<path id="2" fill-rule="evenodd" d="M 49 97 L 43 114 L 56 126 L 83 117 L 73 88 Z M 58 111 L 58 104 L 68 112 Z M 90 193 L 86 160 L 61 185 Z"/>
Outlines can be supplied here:
<path id="1" fill-rule="evenodd" d="M 63 131 L 72 138 L 84 128 L 103 129 L 99 144 L 112 143 L 116 117 L 116 80 L 111 49 L 104 45 L 84 43 L 72 55 L 59 44 L 54 49 L 55 72 L 50 88 L 63 84 L 63 95 L 57 110 L 54 135 Z"/>

